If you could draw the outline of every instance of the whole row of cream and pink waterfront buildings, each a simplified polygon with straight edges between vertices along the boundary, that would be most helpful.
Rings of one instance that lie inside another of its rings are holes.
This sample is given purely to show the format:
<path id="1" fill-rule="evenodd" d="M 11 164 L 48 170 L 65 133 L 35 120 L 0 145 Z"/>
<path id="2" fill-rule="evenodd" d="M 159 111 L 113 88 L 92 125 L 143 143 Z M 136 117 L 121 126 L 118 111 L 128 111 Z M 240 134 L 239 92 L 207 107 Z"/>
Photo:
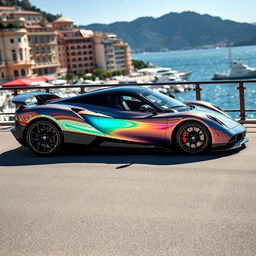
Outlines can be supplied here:
<path id="1" fill-rule="evenodd" d="M 0 6 L 0 81 L 95 68 L 132 71 L 131 51 L 114 34 L 78 29 L 60 17 L 48 23 L 40 12 Z"/>

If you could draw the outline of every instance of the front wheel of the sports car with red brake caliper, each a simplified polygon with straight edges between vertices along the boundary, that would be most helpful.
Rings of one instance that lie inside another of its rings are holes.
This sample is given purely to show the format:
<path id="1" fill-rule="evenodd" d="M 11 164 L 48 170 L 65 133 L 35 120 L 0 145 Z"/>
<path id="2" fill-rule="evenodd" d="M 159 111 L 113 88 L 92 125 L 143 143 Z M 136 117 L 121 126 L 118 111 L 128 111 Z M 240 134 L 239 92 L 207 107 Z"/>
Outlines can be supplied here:
<path id="1" fill-rule="evenodd" d="M 178 149 L 188 154 L 205 152 L 211 142 L 208 129 L 197 122 L 184 123 L 176 133 L 176 145 Z"/>

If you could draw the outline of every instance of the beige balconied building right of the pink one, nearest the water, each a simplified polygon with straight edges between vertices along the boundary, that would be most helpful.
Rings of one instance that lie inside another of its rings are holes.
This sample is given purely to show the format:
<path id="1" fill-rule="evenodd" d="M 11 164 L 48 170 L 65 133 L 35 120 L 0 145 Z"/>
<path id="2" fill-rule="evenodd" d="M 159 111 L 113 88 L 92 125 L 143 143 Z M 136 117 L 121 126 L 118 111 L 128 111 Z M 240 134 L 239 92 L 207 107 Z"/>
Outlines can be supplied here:
<path id="1" fill-rule="evenodd" d="M 129 45 L 114 34 L 96 32 L 94 45 L 97 67 L 112 72 L 130 74 L 133 70 Z"/>

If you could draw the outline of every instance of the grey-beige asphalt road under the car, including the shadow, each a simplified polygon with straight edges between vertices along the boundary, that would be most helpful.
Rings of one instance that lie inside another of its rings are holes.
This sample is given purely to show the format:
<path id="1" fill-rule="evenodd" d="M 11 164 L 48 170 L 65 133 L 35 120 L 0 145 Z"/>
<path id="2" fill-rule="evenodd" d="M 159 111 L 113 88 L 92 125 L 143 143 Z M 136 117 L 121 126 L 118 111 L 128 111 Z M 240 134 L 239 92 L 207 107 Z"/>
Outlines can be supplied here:
<path id="1" fill-rule="evenodd" d="M 256 134 L 240 152 L 70 148 L 0 132 L 0 255 L 256 255 Z"/>

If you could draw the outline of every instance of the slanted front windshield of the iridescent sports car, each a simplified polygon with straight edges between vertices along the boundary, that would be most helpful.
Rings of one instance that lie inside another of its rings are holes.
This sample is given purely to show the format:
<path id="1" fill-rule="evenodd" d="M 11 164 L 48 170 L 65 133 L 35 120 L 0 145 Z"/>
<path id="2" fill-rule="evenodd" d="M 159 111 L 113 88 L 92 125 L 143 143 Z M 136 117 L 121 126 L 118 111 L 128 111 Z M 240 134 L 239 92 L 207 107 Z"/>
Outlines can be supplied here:
<path id="1" fill-rule="evenodd" d="M 164 112 L 175 108 L 187 108 L 184 103 L 153 90 L 144 91 L 142 96 Z"/>

